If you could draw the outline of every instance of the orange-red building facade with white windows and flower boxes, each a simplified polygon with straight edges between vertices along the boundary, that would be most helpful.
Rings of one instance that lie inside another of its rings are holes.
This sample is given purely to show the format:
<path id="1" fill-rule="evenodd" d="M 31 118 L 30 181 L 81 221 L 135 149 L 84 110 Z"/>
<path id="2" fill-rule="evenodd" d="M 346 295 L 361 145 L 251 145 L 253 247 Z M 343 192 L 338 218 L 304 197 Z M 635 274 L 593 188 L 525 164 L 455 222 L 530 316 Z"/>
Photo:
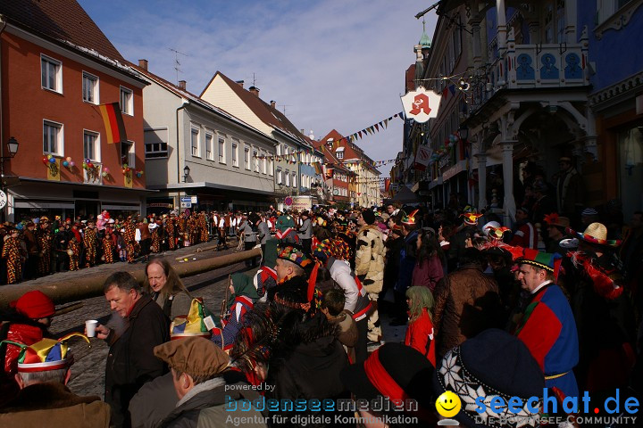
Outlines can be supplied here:
<path id="1" fill-rule="evenodd" d="M 8 16 L 0 34 L 2 156 L 11 137 L 19 143 L 4 160 L 4 218 L 144 213 L 146 81 L 106 38 L 72 44 L 20 18 Z M 105 103 L 120 103 L 127 141 L 107 143 Z"/>

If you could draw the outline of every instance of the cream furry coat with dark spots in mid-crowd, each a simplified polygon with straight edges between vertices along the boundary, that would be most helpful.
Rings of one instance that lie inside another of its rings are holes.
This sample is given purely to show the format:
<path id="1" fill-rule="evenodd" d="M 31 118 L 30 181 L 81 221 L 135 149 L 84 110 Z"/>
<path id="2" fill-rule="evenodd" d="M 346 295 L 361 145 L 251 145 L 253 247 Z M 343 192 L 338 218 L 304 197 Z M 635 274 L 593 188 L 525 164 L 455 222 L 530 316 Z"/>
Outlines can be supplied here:
<path id="1" fill-rule="evenodd" d="M 357 232 L 355 275 L 363 277 L 362 284 L 366 292 L 381 292 L 384 284 L 385 252 L 384 240 L 378 226 L 363 226 Z"/>

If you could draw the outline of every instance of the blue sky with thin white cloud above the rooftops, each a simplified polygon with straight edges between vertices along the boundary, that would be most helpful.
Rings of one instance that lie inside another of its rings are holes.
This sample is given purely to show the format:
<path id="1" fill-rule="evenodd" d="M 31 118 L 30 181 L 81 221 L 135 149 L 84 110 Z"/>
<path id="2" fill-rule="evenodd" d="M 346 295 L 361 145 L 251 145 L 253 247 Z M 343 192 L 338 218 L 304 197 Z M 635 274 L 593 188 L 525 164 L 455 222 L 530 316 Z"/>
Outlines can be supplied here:
<path id="1" fill-rule="evenodd" d="M 422 36 L 415 0 L 79 0 L 131 62 L 199 95 L 219 70 L 255 79 L 261 98 L 275 100 L 297 128 L 316 138 L 332 128 L 350 135 L 402 111 L 405 70 Z M 432 37 L 436 16 L 429 12 Z M 402 147 L 402 120 L 357 142 L 373 161 Z M 380 171 L 388 175 L 390 165 Z"/>

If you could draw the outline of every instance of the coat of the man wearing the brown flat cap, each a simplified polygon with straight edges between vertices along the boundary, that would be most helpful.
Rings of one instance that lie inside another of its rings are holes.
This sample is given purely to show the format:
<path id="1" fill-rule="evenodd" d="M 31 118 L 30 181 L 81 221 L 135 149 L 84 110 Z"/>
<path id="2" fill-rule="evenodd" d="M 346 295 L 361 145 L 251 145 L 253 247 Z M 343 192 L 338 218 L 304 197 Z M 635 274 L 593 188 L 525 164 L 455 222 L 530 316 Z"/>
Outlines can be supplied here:
<path id="1" fill-rule="evenodd" d="M 221 377 L 215 377 L 204 383 L 196 384 L 179 400 L 177 407 L 168 415 L 161 426 L 163 428 L 205 428 L 228 426 L 235 418 L 246 417 L 243 426 L 263 428 L 265 419 L 255 408 L 247 408 L 247 402 L 261 402 L 256 391 L 242 390 L 245 382 L 226 382 L 226 378 L 240 380 L 242 374 L 229 371 Z M 232 388 L 226 391 L 226 385 Z M 243 407 L 238 401 L 244 400 Z M 234 410 L 232 410 L 234 409 Z"/>

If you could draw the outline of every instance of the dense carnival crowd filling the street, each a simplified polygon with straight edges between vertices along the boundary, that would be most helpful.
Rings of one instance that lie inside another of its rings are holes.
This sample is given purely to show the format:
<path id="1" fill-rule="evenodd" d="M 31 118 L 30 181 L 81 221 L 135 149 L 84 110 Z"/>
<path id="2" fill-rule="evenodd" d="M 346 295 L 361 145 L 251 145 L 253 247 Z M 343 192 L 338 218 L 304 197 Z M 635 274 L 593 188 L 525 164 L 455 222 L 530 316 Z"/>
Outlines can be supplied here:
<path id="1" fill-rule="evenodd" d="M 25 293 L 4 317 L 0 421 L 430 426 L 443 418 L 436 414 L 438 396 L 455 391 L 463 405 L 454 417 L 464 426 L 537 426 L 552 416 L 580 426 L 568 417 L 579 415 L 564 407 L 544 412 L 543 391 L 559 403 L 583 391 L 592 399 L 615 391 L 621 399 L 640 398 L 643 213 L 624 224 L 610 202 L 609 210 L 585 207 L 578 218 L 565 217 L 542 208 L 549 197 L 544 182 L 531 187 L 514 230 L 500 226 L 491 210 L 478 213 L 456 202 L 435 211 L 389 203 L 240 213 L 236 227 L 227 216 L 205 213 L 139 222 L 143 229 L 159 225 L 151 232 L 165 231 L 168 249 L 181 236 L 184 244 L 207 240 L 207 225 L 221 225 L 223 245 L 230 233 L 246 249 L 261 245 L 261 266 L 254 275 L 230 277 L 221 311 L 188 292 L 163 259 L 146 258 L 142 286 L 125 272 L 107 278 L 113 316 L 107 325 L 92 325 L 110 345 L 104 401 L 64 386 L 73 362 L 67 342 L 82 334 L 50 337 L 53 301 Z M 140 230 L 136 219 L 121 224 L 103 213 L 98 220 L 105 236 L 118 227 Z M 167 233 L 180 221 L 186 226 Z M 81 236 L 93 235 L 93 219 L 81 225 Z M 58 234 L 71 229 L 71 242 L 84 242 L 73 232 L 77 224 L 55 226 Z M 39 227 L 48 230 L 48 219 Z M 132 235 L 121 245 L 124 259 L 138 251 L 141 240 Z M 154 248 L 154 240 L 140 246 Z M 383 319 L 407 325 L 404 342 L 382 341 Z M 512 416 L 506 409 L 480 420 L 471 403 L 488 394 L 541 401 L 513 423 L 494 418 Z M 355 408 L 337 404 L 284 405 L 378 397 L 414 404 L 359 407 L 359 418 Z"/>

